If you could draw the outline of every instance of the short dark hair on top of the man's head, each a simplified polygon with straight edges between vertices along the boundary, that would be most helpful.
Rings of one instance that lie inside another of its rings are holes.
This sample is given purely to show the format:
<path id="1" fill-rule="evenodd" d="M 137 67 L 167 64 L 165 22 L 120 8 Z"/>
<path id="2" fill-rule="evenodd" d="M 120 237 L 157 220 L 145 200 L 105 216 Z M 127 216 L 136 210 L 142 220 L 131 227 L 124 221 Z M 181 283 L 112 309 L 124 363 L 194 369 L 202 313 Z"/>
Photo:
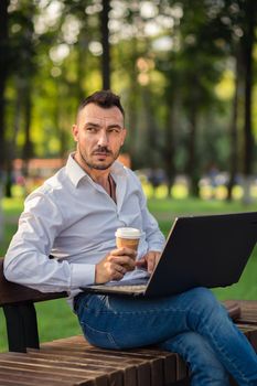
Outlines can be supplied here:
<path id="1" fill-rule="evenodd" d="M 110 89 L 103 89 L 89 95 L 79 105 L 78 112 L 88 104 L 96 104 L 97 106 L 100 106 L 103 108 L 110 108 L 116 106 L 125 117 L 125 110 L 120 103 L 120 97 L 114 94 Z"/>

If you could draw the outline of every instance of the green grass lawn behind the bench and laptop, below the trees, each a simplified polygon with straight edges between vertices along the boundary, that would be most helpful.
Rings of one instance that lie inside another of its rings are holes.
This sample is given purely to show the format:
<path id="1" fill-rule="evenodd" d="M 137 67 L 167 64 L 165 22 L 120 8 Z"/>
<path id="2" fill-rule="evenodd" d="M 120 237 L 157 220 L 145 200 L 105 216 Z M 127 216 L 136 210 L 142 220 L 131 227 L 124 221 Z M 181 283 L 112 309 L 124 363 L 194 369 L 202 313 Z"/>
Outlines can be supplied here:
<path id="1" fill-rule="evenodd" d="M 22 211 L 22 201 L 19 199 L 3 200 L 4 240 L 0 245 L 1 256 L 4 255 L 8 244 L 17 229 L 18 216 Z M 244 206 L 239 201 L 226 203 L 217 200 L 150 199 L 149 208 L 158 219 L 162 232 L 167 236 L 174 217 L 178 215 L 256 211 L 257 203 Z M 219 300 L 257 300 L 257 247 L 255 248 L 239 282 L 228 288 L 215 289 L 214 293 Z M 71 312 L 65 299 L 38 303 L 36 311 L 39 315 L 41 342 L 81 333 L 76 317 Z M 6 322 L 2 311 L 0 312 L 0 351 L 4 351 L 7 350 L 7 340 Z"/>

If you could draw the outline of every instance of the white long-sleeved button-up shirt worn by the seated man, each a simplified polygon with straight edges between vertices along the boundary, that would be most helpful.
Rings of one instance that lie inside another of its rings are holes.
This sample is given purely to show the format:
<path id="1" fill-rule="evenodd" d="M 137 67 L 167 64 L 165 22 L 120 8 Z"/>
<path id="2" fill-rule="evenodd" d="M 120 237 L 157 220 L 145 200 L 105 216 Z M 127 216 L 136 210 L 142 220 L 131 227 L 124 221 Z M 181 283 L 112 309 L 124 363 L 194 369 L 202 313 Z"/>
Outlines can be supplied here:
<path id="1" fill-rule="evenodd" d="M 117 161 L 111 176 L 117 203 L 71 154 L 64 168 L 32 192 L 4 258 L 7 279 L 74 297 L 79 287 L 94 283 L 95 265 L 116 248 L 115 232 L 122 226 L 142 230 L 138 258 L 148 250 L 161 251 L 164 237 L 147 208 L 138 178 Z M 125 277 L 141 274 L 136 269 Z"/>

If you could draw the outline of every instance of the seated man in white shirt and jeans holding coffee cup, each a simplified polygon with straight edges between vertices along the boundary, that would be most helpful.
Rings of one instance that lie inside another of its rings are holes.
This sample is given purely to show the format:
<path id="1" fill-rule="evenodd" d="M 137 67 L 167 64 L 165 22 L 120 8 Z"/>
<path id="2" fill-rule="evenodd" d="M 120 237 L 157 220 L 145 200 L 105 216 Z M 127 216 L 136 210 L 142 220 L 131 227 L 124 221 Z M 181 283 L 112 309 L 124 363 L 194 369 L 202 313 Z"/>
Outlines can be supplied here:
<path id="1" fill-rule="evenodd" d="M 76 151 L 66 167 L 25 201 L 4 259 L 7 279 L 42 292 L 68 291 L 92 344 L 159 344 L 189 363 L 192 385 L 227 386 L 228 373 L 239 385 L 257 385 L 256 353 L 210 290 L 159 299 L 79 291 L 94 282 L 151 274 L 164 238 L 138 179 L 116 161 L 126 138 L 119 97 L 97 92 L 86 98 L 73 137 Z M 120 226 L 143 233 L 136 262 L 133 250 L 115 247 Z"/>

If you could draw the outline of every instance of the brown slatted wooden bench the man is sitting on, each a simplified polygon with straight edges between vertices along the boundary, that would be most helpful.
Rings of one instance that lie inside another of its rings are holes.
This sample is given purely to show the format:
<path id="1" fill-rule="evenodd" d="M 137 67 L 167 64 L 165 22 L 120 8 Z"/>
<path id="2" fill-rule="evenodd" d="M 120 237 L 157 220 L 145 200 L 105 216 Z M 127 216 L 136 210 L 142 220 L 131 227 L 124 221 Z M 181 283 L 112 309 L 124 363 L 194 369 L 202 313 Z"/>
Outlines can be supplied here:
<path id="1" fill-rule="evenodd" d="M 7 320 L 9 342 L 9 352 L 0 353 L 1 386 L 189 385 L 188 368 L 180 356 L 157 347 L 101 350 L 92 346 L 82 335 L 40 345 L 34 302 L 62 297 L 66 293 L 43 294 L 8 282 L 0 261 L 0 305 Z M 257 350 L 257 301 L 228 301 L 226 305 Z"/>

